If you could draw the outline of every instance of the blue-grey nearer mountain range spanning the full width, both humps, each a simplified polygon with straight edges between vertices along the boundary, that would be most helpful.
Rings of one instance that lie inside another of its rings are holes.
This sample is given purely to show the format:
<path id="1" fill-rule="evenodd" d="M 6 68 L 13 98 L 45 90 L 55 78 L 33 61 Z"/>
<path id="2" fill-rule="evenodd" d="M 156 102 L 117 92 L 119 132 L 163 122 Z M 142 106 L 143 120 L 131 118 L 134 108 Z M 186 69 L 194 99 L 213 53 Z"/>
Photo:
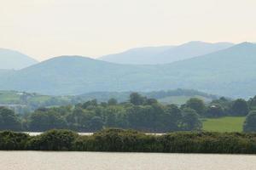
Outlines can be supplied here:
<path id="1" fill-rule="evenodd" d="M 256 94 L 255 63 L 256 44 L 249 42 L 166 65 L 119 65 L 62 56 L 0 74 L 0 89 L 62 95 L 186 88 L 251 97 Z"/>

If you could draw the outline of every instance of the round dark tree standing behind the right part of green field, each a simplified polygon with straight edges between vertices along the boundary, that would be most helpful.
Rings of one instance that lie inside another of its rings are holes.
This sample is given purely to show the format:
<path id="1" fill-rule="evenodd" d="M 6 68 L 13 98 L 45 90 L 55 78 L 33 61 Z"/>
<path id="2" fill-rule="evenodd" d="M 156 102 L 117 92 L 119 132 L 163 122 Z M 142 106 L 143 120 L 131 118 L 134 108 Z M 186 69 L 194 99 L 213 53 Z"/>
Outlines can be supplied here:
<path id="1" fill-rule="evenodd" d="M 231 106 L 231 115 L 233 116 L 247 116 L 248 114 L 247 102 L 244 99 L 236 99 Z"/>

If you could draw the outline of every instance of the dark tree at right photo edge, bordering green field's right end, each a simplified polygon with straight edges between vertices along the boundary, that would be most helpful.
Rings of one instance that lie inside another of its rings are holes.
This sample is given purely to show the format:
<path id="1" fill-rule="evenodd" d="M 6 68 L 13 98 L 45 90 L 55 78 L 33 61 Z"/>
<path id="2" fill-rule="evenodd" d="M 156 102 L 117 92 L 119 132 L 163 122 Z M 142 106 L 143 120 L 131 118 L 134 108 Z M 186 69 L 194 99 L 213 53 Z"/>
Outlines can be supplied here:
<path id="1" fill-rule="evenodd" d="M 256 111 L 250 111 L 243 124 L 243 132 L 256 132 Z"/>

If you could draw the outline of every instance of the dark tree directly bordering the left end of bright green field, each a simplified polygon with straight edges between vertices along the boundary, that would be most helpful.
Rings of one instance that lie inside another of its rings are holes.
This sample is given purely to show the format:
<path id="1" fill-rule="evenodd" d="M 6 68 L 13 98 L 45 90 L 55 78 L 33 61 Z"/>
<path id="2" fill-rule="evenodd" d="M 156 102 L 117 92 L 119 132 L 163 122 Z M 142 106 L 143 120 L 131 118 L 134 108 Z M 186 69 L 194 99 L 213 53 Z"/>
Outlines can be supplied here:
<path id="1" fill-rule="evenodd" d="M 181 127 L 184 131 L 201 130 L 202 124 L 195 110 L 190 108 L 183 109 Z"/>

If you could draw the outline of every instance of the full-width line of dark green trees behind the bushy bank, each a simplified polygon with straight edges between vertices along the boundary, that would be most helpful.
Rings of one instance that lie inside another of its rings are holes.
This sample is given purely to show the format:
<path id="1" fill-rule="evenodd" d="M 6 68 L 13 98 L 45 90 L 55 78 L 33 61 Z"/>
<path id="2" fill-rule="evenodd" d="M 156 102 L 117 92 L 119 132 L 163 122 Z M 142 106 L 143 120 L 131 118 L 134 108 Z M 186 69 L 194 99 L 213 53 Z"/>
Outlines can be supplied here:
<path id="1" fill-rule="evenodd" d="M 248 115 L 244 130 L 251 132 L 256 130 L 256 127 L 252 128 L 253 121 L 250 121 L 256 117 L 253 111 L 255 105 L 256 98 L 248 101 L 219 98 L 210 104 L 192 98 L 181 106 L 162 105 L 156 99 L 132 93 L 129 100 L 122 103 L 117 99 L 101 103 L 92 99 L 78 105 L 38 108 L 24 115 L 0 107 L 0 129 L 44 132 L 65 128 L 77 132 L 96 132 L 103 128 L 119 127 L 147 133 L 167 133 L 200 131 L 204 117 Z"/>

